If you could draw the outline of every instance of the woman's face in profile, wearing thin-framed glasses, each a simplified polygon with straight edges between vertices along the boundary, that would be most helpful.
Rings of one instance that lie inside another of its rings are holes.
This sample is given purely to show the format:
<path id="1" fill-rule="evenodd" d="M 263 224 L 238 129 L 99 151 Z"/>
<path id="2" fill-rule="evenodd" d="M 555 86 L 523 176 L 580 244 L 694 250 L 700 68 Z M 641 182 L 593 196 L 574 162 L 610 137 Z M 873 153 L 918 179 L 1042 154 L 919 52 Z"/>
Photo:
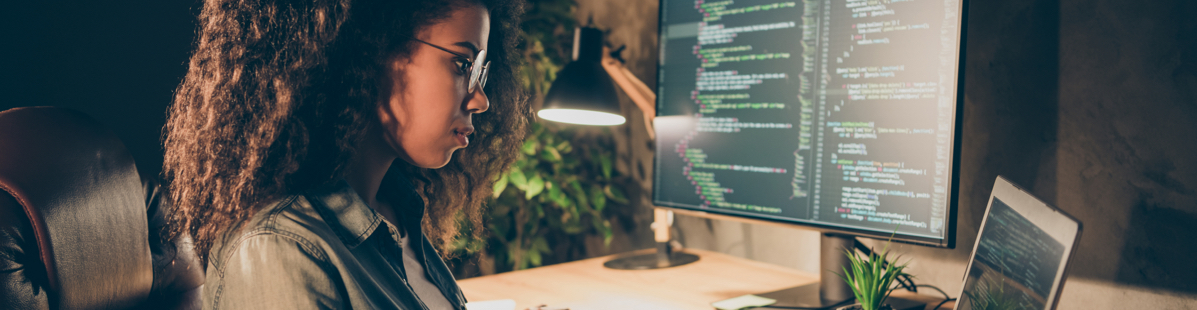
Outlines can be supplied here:
<path id="1" fill-rule="evenodd" d="M 473 60 L 486 48 L 490 13 L 482 6 L 457 8 L 417 38 Z M 470 115 L 490 108 L 481 86 L 467 92 L 469 72 L 458 55 L 414 43 L 409 59 L 389 63 L 391 92 L 378 108 L 384 138 L 400 158 L 420 168 L 442 168 L 469 144 Z M 475 61 L 474 66 L 482 66 Z"/>

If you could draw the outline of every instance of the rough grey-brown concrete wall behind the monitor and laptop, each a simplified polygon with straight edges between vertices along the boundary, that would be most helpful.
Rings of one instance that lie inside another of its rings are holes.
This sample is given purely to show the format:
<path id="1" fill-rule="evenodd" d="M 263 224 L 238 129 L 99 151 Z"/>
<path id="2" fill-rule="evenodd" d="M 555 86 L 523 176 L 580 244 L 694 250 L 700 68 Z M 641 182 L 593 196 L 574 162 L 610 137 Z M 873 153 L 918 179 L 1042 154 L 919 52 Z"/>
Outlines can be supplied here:
<path id="1" fill-rule="evenodd" d="M 899 245 L 917 281 L 959 294 L 1002 175 L 1084 223 L 1061 309 L 1197 309 L 1197 4 L 970 5 L 956 248 Z M 590 16 L 655 86 L 657 1 L 579 0 L 579 20 Z M 637 176 L 648 188 L 651 150 L 628 104 L 620 152 L 625 168 L 646 166 Z M 675 226 L 687 247 L 819 271 L 813 231 L 692 217 Z"/>

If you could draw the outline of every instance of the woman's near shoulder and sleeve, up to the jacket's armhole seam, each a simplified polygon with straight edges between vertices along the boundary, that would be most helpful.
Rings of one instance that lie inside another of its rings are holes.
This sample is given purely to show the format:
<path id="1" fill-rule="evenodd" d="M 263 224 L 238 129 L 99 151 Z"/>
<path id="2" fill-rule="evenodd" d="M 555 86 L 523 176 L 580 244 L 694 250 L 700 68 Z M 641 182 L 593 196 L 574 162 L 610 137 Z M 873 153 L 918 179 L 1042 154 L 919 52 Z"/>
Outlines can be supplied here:
<path id="1" fill-rule="evenodd" d="M 346 308 L 327 226 L 303 196 L 260 209 L 212 247 L 203 308 Z"/>

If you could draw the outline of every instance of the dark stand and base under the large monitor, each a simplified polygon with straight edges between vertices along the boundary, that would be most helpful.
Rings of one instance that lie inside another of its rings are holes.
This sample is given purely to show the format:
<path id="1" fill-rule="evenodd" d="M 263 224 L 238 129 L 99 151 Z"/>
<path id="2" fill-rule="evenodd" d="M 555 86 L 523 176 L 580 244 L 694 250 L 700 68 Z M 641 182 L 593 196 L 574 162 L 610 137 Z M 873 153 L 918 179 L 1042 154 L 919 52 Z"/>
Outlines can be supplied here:
<path id="1" fill-rule="evenodd" d="M 839 278 L 839 274 L 843 272 L 843 266 L 850 266 L 844 250 L 855 248 L 856 238 L 852 236 L 822 233 L 819 239 L 819 267 L 822 269 L 819 273 L 819 282 L 757 296 L 777 299 L 777 303 L 770 306 L 779 308 L 836 309 L 849 305 L 855 299 L 852 287 L 847 286 L 847 282 Z M 926 306 L 924 303 L 892 296 L 886 299 L 886 304 L 889 304 L 894 310 Z M 768 306 L 762 309 L 768 309 Z"/>

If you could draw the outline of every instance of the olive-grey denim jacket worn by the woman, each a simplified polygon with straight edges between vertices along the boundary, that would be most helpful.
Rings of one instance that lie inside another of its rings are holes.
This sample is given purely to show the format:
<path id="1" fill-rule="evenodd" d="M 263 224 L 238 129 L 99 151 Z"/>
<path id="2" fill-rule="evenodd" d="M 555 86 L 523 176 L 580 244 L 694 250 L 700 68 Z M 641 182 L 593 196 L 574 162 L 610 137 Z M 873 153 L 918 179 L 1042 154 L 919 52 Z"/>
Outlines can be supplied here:
<path id="1" fill-rule="evenodd" d="M 388 175 L 383 187 L 429 280 L 454 309 L 464 309 L 466 297 L 420 230 L 424 201 L 403 177 Z M 284 197 L 213 244 L 203 309 L 427 310 L 407 282 L 396 231 L 345 181 Z"/>

